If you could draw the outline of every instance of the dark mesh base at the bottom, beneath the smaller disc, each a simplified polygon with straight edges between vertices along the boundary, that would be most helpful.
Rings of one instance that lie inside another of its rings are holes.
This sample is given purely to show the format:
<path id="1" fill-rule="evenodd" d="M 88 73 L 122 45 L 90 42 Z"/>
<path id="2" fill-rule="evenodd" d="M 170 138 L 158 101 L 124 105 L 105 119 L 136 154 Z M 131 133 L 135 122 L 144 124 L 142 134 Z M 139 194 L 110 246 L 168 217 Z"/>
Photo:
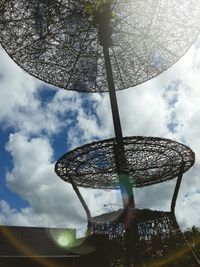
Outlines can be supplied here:
<path id="1" fill-rule="evenodd" d="M 118 219 L 113 222 L 117 215 Z M 92 233 L 108 235 L 110 240 L 110 266 L 130 266 L 130 258 L 134 266 L 161 266 L 157 262 L 159 258 L 169 260 L 169 256 L 177 250 L 186 251 L 184 236 L 173 213 L 136 209 L 127 230 L 124 215 L 122 210 L 118 210 L 92 218 Z M 187 253 L 190 253 L 188 248 Z M 168 262 L 164 266 L 183 266 L 181 262 L 176 264 Z M 187 266 L 196 266 L 192 264 L 194 259 L 190 258 Z"/>

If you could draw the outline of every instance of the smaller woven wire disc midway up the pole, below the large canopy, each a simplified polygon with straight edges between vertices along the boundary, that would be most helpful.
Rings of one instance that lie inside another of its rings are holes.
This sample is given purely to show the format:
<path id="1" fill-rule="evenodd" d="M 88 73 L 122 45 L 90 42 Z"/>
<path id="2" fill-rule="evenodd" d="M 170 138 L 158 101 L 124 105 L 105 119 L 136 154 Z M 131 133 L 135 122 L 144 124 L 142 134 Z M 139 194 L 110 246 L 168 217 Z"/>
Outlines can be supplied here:
<path id="1" fill-rule="evenodd" d="M 56 165 L 58 176 L 77 186 L 118 189 L 119 175 L 128 175 L 132 187 L 170 180 L 193 164 L 193 151 L 180 143 L 156 137 L 125 137 L 121 174 L 116 168 L 116 139 L 94 142 L 66 153 Z"/>

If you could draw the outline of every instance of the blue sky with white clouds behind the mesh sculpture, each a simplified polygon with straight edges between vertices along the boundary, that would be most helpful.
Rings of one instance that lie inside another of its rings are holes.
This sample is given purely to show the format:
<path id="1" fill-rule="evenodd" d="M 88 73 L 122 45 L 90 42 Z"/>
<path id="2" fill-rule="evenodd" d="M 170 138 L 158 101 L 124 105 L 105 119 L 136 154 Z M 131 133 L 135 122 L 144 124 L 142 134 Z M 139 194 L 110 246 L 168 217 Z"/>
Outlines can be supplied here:
<path id="1" fill-rule="evenodd" d="M 124 136 L 171 138 L 196 162 L 184 174 L 176 217 L 200 227 L 200 39 L 167 71 L 117 92 Z M 86 227 L 70 184 L 54 173 L 66 152 L 114 136 L 107 93 L 82 94 L 31 77 L 0 48 L 0 225 Z M 175 180 L 134 190 L 137 208 L 169 210 Z M 119 209 L 118 191 L 80 189 L 92 215 Z"/>

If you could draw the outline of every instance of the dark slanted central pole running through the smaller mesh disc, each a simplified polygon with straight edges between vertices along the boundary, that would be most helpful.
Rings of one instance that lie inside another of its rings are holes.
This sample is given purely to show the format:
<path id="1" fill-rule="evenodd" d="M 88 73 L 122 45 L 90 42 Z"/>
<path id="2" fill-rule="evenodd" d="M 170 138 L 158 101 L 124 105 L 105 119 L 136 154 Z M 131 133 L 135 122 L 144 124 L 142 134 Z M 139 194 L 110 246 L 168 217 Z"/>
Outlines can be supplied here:
<path id="1" fill-rule="evenodd" d="M 132 185 L 130 183 L 128 173 L 124 169 L 124 166 L 126 166 L 126 159 L 125 159 L 125 151 L 123 144 L 123 135 L 122 135 L 122 128 L 120 123 L 117 97 L 113 81 L 113 73 L 112 73 L 112 66 L 111 66 L 108 46 L 103 45 L 103 53 L 105 59 L 108 89 L 109 89 L 112 117 L 113 117 L 114 130 L 116 136 L 116 149 L 114 151 L 114 154 L 115 154 L 117 173 L 119 175 L 119 183 L 122 193 L 123 206 L 125 209 L 135 208 Z"/>

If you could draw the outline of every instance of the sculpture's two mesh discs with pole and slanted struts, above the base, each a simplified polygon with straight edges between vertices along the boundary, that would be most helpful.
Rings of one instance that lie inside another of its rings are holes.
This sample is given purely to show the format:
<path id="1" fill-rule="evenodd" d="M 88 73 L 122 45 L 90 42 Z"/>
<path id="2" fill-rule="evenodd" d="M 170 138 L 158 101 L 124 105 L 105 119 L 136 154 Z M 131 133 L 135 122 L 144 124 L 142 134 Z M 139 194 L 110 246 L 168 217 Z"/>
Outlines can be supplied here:
<path id="1" fill-rule="evenodd" d="M 55 167 L 72 184 L 90 226 L 93 219 L 77 185 L 120 187 L 129 221 L 137 211 L 132 187 L 178 176 L 174 211 L 182 174 L 193 165 L 194 153 L 167 139 L 123 138 L 115 91 L 145 82 L 177 62 L 199 34 L 199 15 L 196 0 L 181 5 L 179 0 L 1 1 L 0 42 L 24 70 L 64 89 L 110 94 L 116 138 L 77 148 Z M 140 225 L 141 231 L 148 228 Z"/>

